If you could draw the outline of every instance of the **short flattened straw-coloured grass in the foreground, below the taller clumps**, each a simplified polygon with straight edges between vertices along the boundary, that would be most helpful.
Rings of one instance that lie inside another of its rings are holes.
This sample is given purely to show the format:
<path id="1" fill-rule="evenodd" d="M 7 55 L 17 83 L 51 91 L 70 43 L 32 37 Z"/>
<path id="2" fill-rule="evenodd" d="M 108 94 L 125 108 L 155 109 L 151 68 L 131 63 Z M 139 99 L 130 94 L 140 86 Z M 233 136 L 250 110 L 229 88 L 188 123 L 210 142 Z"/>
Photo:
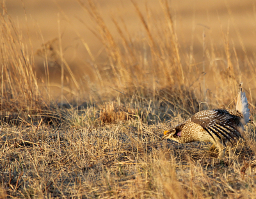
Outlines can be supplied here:
<path id="1" fill-rule="evenodd" d="M 172 125 L 180 122 L 176 118 Z M 255 198 L 256 159 L 224 162 L 209 143 L 160 142 L 170 123 L 1 127 L 2 193 L 14 198 Z M 248 132 L 255 139 L 255 130 Z"/>

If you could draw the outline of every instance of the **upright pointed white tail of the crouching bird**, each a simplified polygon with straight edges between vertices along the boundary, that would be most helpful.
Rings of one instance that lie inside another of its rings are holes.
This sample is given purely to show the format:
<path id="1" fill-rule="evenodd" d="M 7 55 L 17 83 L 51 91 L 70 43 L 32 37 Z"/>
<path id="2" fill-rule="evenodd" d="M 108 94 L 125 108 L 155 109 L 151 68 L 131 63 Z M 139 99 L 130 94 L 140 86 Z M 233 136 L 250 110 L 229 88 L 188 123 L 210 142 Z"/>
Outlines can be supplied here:
<path id="1" fill-rule="evenodd" d="M 248 101 L 246 98 L 245 93 L 242 91 L 241 85 L 243 83 L 239 84 L 239 93 L 237 97 L 237 103 L 236 103 L 236 109 L 244 116 L 244 124 L 249 122 L 250 118 L 250 109 L 248 107 Z"/>

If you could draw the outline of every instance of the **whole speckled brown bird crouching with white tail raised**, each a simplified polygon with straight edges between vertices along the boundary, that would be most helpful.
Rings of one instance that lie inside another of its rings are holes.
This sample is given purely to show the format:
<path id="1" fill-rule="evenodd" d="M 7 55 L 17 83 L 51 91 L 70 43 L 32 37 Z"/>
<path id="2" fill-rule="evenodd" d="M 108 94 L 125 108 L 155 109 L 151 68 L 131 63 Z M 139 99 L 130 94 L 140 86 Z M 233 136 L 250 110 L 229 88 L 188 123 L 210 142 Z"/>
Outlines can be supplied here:
<path id="1" fill-rule="evenodd" d="M 239 84 L 236 109 L 199 111 L 185 122 L 164 131 L 161 141 L 172 139 L 178 143 L 211 142 L 218 149 L 218 159 L 223 159 L 227 143 L 234 144 L 239 138 L 244 139 L 244 125 L 250 121 L 250 109 L 242 84 Z"/>

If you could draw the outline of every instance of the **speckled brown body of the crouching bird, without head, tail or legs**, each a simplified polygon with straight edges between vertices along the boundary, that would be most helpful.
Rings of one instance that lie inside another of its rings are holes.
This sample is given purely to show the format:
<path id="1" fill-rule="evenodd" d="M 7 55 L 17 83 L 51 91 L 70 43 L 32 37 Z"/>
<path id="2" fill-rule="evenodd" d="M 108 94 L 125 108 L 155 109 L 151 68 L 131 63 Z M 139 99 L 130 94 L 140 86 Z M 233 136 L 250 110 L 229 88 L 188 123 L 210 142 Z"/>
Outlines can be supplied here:
<path id="1" fill-rule="evenodd" d="M 181 143 L 192 141 L 218 140 L 236 141 L 241 138 L 240 122 L 243 115 L 237 110 L 209 109 L 199 111 L 189 120 L 184 122 L 182 127 Z"/>

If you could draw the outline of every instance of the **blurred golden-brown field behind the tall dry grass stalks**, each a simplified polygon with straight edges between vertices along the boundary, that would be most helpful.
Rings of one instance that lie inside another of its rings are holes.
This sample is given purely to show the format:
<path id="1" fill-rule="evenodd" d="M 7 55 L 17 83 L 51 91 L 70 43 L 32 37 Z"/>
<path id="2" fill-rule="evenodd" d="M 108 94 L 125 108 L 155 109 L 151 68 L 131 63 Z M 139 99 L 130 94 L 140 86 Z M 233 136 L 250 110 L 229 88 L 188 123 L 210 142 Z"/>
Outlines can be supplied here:
<path id="1" fill-rule="evenodd" d="M 155 79 L 153 80 L 154 77 L 150 76 L 147 81 L 155 82 L 156 86 L 159 84 L 162 87 L 168 84 L 173 86 L 172 82 L 168 82 L 169 80 L 165 81 L 164 85 L 160 83 L 161 79 L 168 78 L 164 76 L 172 76 L 164 72 L 162 65 L 169 71 L 171 71 L 170 68 L 177 67 L 172 63 L 172 57 L 175 55 L 172 52 L 172 33 L 168 33 L 170 24 L 168 25 L 166 13 L 159 1 L 134 1 L 134 3 L 138 6 L 140 13 L 131 1 L 108 1 L 108 3 L 97 1 L 97 12 L 111 34 L 117 46 L 116 52 L 120 54 L 119 59 L 122 61 L 122 66 L 115 67 L 123 67 L 122 71 L 127 73 L 127 76 L 133 73 L 136 78 L 140 78 L 137 77 L 136 72 L 145 76 L 153 74 L 156 76 Z M 214 93 L 216 90 L 219 92 L 228 90 L 227 85 L 221 85 L 227 77 L 214 80 L 212 72 L 216 67 L 220 69 L 220 74 L 228 73 L 227 70 L 234 68 L 234 73 L 237 73 L 234 78 L 236 82 L 243 81 L 246 88 L 255 89 L 255 86 L 252 86 L 253 76 L 248 77 L 245 73 L 243 76 L 240 73 L 241 68 L 243 71 L 245 69 L 245 72 L 250 70 L 249 67 L 253 64 L 255 56 L 253 53 L 256 40 L 253 1 L 182 3 L 170 1 L 169 6 L 177 43 L 175 45 L 179 48 L 179 62 L 185 73 L 188 69 L 189 74 L 192 72 L 194 76 L 184 79 L 189 86 L 196 88 L 197 83 L 202 84 L 201 76 L 205 67 L 205 90 L 210 89 Z M 108 83 L 105 82 L 104 85 L 98 84 L 97 76 L 101 79 L 108 76 L 113 72 L 111 70 L 115 63 L 109 60 L 108 44 L 102 41 L 108 36 L 105 35 L 104 38 L 99 31 L 102 28 L 99 21 L 97 23 L 93 20 L 78 1 L 11 0 L 6 1 L 6 8 L 12 17 L 13 24 L 22 33 L 22 42 L 28 46 L 28 53 L 33 54 L 33 67 L 35 66 L 38 84 L 42 86 L 48 81 L 47 90 L 51 95 L 60 99 L 61 59 L 67 62 L 77 82 L 74 85 L 70 71 L 64 66 L 65 88 L 72 89 L 73 92 L 64 91 L 69 102 L 72 97 L 75 97 L 74 94 L 76 99 L 77 96 L 79 99 L 88 96 L 84 94 L 84 92 L 90 92 L 88 88 L 90 86 L 86 81 L 97 84 L 97 88 L 101 86 L 99 90 L 109 90 L 108 86 L 111 85 L 117 86 L 113 77 L 109 77 L 111 79 L 108 78 Z M 92 10 L 89 7 L 88 9 Z M 140 14 L 147 24 L 148 31 L 141 21 Z M 136 52 L 135 56 L 131 51 Z M 152 51 L 159 51 L 157 58 L 154 58 Z M 159 63 L 161 61 L 163 63 Z M 46 62 L 49 74 L 45 72 Z M 159 73 L 164 73 L 162 76 L 155 74 L 154 68 L 157 68 L 157 65 L 161 67 Z M 95 70 L 99 70 L 98 75 Z M 88 76 L 87 79 L 86 76 Z M 129 80 L 123 79 L 125 83 L 119 81 L 118 84 L 127 88 L 131 86 L 131 82 L 134 82 L 134 77 L 130 77 Z M 145 79 L 138 81 L 150 84 Z M 247 85 L 249 81 L 250 86 Z"/>

